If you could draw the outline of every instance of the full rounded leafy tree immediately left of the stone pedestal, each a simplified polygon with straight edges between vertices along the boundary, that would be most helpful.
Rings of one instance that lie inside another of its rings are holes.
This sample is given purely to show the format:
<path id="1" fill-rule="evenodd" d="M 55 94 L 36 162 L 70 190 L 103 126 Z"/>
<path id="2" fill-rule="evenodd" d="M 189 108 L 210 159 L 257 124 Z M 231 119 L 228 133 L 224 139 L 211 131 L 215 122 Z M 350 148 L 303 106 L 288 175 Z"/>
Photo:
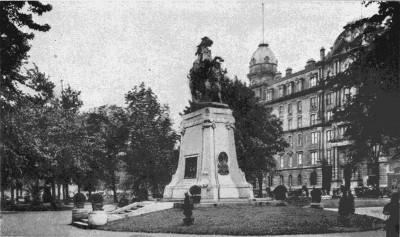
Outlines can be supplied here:
<path id="1" fill-rule="evenodd" d="M 159 195 L 177 166 L 174 146 L 178 139 L 172 129 L 169 108 L 161 105 L 151 88 L 144 83 L 126 96 L 129 114 L 129 150 L 126 171 L 133 177 L 133 190 L 152 190 Z"/>

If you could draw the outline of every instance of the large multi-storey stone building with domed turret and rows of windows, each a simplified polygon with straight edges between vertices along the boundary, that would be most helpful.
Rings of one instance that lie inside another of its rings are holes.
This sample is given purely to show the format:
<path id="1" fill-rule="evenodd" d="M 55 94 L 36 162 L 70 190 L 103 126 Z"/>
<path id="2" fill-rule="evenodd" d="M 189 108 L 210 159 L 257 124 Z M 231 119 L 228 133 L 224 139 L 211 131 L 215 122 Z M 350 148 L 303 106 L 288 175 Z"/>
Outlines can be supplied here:
<path id="1" fill-rule="evenodd" d="M 285 75 L 277 72 L 278 60 L 270 46 L 259 45 L 250 61 L 250 86 L 261 102 L 271 107 L 272 113 L 282 120 L 284 136 L 290 144 L 282 156 L 276 157 L 278 165 L 267 175 L 266 186 L 284 184 L 293 189 L 303 185 L 321 188 L 323 173 L 331 180 L 331 188 L 344 184 L 342 165 L 346 157 L 341 150 L 348 141 L 343 140 L 345 124 L 332 122 L 332 115 L 335 108 L 343 106 L 347 98 L 356 93 L 356 89 L 334 92 L 323 82 L 346 70 L 351 63 L 351 51 L 362 44 L 359 31 L 344 31 L 328 53 L 324 48 L 320 49 L 318 61 L 309 59 L 304 69 L 298 72 L 287 68 Z M 380 163 L 380 186 L 397 186 L 400 165 L 389 164 L 386 160 L 382 157 Z M 352 188 L 371 185 L 377 180 L 372 170 L 366 164 L 360 164 L 353 173 Z"/>

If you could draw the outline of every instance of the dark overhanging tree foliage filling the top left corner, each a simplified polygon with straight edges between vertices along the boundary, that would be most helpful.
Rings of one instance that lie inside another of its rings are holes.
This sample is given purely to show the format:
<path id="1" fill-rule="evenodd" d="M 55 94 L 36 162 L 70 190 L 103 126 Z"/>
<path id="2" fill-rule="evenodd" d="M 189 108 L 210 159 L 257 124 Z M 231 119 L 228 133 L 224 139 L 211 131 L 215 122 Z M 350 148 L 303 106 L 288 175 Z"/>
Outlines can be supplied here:
<path id="1" fill-rule="evenodd" d="M 27 77 L 20 74 L 24 60 L 28 59 L 31 46 L 29 41 L 34 38 L 29 30 L 46 32 L 48 24 L 38 24 L 33 15 L 41 16 L 52 9 L 50 4 L 33 1 L 2 1 L 0 2 L 0 64 L 1 64 L 1 109 L 12 107 L 23 96 L 18 84 L 25 84 Z M 3 111 L 4 112 L 4 111 Z"/>

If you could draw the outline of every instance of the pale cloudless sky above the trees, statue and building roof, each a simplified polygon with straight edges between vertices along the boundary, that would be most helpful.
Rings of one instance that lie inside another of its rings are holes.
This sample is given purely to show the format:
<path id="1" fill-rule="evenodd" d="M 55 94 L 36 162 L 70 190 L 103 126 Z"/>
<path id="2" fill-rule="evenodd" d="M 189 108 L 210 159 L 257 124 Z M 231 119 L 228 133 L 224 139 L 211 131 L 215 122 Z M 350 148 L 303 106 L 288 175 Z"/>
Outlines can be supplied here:
<path id="1" fill-rule="evenodd" d="M 359 1 L 73 1 L 50 2 L 53 10 L 36 18 L 51 30 L 35 33 L 30 62 L 81 91 L 84 110 L 125 104 L 124 95 L 145 82 L 171 108 L 175 128 L 191 98 L 187 74 L 196 46 L 208 36 L 213 56 L 222 56 L 229 76 L 248 81 L 250 58 L 265 39 L 278 70 L 318 61 L 343 26 L 372 15 L 376 5 Z"/>

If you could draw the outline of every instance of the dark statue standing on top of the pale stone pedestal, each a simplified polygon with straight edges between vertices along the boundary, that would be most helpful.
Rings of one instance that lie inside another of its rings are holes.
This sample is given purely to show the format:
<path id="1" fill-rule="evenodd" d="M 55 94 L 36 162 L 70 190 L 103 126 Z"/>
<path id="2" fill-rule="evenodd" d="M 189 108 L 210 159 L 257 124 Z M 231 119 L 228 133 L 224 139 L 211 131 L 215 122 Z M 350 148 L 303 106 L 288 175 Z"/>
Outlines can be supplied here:
<path id="1" fill-rule="evenodd" d="M 221 63 L 224 61 L 221 57 L 211 56 L 209 47 L 213 41 L 208 37 L 203 37 L 201 43 L 197 46 L 197 59 L 188 75 L 190 92 L 193 102 L 217 102 L 221 100 L 221 80 L 226 71 L 221 69 Z"/>

